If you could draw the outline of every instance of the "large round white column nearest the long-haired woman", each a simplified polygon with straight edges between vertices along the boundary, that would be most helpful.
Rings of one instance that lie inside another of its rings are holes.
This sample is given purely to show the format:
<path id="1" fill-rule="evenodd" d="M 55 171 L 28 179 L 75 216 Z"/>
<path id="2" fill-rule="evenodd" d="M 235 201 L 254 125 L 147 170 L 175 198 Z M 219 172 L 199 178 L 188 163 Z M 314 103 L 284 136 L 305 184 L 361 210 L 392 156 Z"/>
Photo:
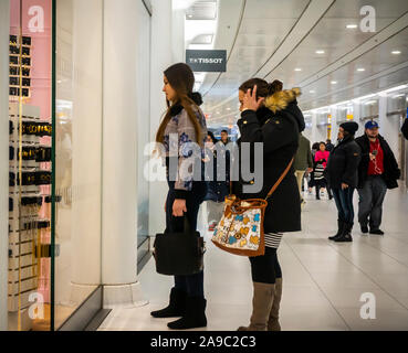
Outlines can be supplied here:
<path id="1" fill-rule="evenodd" d="M 137 281 L 137 11 L 105 0 L 103 51 L 102 280 L 104 306 L 142 300 Z M 146 121 L 146 124 L 148 124 Z"/>

